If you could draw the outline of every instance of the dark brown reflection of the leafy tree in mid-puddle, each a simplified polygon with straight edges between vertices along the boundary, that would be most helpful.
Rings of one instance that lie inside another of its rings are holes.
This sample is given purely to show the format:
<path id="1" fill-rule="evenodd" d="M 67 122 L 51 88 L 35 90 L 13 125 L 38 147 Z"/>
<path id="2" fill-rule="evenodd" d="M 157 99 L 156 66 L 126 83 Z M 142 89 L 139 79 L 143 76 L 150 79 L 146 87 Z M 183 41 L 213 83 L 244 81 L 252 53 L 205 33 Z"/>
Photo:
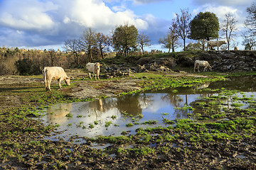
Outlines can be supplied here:
<path id="1" fill-rule="evenodd" d="M 142 108 L 146 108 L 152 102 L 146 94 L 133 94 L 117 98 L 116 107 L 119 112 L 126 112 L 129 115 L 142 114 Z"/>

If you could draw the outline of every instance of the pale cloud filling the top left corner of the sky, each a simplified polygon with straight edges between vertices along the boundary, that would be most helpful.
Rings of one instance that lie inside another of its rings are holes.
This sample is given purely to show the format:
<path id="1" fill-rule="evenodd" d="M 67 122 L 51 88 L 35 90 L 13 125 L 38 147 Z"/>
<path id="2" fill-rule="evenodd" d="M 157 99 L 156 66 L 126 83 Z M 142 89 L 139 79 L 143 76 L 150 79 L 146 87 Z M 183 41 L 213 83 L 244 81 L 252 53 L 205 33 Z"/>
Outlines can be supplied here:
<path id="1" fill-rule="evenodd" d="M 55 23 L 47 12 L 56 8 L 50 2 L 3 1 L 0 7 L 0 25 L 18 30 L 43 31 L 51 29 L 55 26 Z"/>

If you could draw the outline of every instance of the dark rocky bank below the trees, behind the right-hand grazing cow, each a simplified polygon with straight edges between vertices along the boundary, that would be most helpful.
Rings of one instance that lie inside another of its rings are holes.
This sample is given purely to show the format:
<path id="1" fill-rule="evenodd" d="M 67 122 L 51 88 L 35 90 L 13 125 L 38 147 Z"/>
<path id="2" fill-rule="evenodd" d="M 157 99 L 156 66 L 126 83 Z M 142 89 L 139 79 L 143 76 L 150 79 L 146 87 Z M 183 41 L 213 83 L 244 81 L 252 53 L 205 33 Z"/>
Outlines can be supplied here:
<path id="1" fill-rule="evenodd" d="M 190 69 L 193 70 L 196 60 L 208 61 L 215 72 L 256 71 L 256 51 L 233 50 L 177 52 L 166 54 L 162 58 L 129 58 L 127 63 L 105 65 L 101 72 L 105 73 L 107 78 L 133 76 L 139 72 L 177 72 L 185 68 L 189 72 Z"/>

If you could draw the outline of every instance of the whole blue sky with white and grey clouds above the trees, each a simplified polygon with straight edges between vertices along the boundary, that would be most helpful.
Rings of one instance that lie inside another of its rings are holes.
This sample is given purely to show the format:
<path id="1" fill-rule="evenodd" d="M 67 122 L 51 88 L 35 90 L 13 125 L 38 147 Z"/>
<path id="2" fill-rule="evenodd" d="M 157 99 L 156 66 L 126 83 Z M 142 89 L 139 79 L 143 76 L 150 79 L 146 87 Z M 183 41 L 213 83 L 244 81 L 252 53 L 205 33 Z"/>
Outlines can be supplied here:
<path id="1" fill-rule="evenodd" d="M 62 50 L 65 40 L 78 38 L 85 28 L 110 34 L 128 23 L 149 35 L 151 49 L 169 30 L 175 13 L 188 8 L 192 18 L 210 11 L 220 23 L 232 13 L 242 31 L 246 8 L 253 0 L 0 0 L 0 47 Z M 241 49 L 240 34 L 236 42 Z M 149 48 L 149 50 L 150 50 Z"/>

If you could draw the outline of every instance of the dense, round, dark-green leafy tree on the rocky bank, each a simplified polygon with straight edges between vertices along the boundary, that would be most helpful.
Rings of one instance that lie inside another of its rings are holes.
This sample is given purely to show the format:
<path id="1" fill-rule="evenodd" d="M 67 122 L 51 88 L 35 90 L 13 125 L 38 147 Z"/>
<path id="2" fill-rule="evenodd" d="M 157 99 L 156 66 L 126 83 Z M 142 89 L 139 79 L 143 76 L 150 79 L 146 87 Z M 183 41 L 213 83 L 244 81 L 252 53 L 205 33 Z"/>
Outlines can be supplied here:
<path id="1" fill-rule="evenodd" d="M 219 21 L 215 13 L 210 12 L 200 12 L 198 13 L 190 25 L 190 34 L 188 38 L 193 40 L 210 40 L 218 38 L 219 31 Z M 203 50 L 205 46 L 203 45 Z"/>

